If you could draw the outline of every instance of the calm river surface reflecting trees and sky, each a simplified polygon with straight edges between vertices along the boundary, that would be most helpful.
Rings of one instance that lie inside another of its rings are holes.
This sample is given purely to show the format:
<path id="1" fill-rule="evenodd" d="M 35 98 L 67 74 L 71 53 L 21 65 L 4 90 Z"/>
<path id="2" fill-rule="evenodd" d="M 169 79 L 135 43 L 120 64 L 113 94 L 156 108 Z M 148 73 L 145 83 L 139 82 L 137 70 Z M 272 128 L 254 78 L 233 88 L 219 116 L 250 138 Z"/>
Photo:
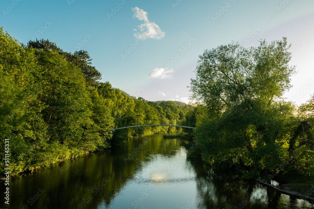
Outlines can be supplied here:
<path id="1" fill-rule="evenodd" d="M 3 208 L 311 208 L 232 170 L 186 158 L 188 141 L 162 135 L 130 140 L 10 180 Z M 1 193 L 4 184 L 1 185 Z M 241 205 L 239 205 L 241 204 Z"/>

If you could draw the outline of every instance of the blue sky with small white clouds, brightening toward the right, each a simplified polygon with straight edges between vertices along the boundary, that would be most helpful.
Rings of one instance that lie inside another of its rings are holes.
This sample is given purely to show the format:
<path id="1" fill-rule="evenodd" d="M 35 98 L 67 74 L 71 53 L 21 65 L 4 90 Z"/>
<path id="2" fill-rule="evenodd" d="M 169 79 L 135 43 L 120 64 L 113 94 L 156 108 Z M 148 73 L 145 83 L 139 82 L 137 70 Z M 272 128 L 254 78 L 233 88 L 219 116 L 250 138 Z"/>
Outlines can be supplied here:
<path id="1" fill-rule="evenodd" d="M 87 50 L 102 81 L 146 100 L 188 102 L 205 49 L 284 36 L 298 70 L 285 97 L 300 104 L 314 93 L 312 0 L 2 0 L 0 8 L 0 26 L 20 42 Z"/>

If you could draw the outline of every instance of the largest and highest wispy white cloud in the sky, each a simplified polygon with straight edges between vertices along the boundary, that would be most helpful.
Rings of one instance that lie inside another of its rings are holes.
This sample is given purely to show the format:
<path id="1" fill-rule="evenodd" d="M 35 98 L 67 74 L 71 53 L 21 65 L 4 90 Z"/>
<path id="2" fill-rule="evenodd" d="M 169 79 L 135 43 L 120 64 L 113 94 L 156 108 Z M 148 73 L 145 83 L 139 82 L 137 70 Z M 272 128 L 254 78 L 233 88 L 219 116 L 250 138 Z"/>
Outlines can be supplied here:
<path id="1" fill-rule="evenodd" d="M 139 27 L 141 33 L 135 33 L 134 36 L 138 39 L 161 39 L 165 37 L 165 32 L 162 32 L 158 25 L 154 22 L 149 22 L 147 12 L 138 7 L 132 8 L 134 12 L 133 18 L 138 18 L 139 20 L 144 20 L 144 24 L 141 24 Z M 135 30 L 135 29 L 134 29 Z"/>

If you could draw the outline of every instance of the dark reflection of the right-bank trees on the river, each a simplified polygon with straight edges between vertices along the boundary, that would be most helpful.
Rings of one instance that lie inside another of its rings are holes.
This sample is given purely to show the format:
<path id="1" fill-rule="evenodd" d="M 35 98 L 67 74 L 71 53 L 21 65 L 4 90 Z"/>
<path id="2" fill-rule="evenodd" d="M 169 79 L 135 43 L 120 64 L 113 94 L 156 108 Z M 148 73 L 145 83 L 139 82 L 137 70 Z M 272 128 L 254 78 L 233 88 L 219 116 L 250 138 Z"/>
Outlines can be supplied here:
<path id="1" fill-rule="evenodd" d="M 254 180 L 241 179 L 234 171 L 213 169 L 193 160 L 196 169 L 199 208 L 231 204 L 237 208 L 312 208 L 306 200 L 281 194 Z M 275 183 L 275 182 L 274 182 Z"/>

